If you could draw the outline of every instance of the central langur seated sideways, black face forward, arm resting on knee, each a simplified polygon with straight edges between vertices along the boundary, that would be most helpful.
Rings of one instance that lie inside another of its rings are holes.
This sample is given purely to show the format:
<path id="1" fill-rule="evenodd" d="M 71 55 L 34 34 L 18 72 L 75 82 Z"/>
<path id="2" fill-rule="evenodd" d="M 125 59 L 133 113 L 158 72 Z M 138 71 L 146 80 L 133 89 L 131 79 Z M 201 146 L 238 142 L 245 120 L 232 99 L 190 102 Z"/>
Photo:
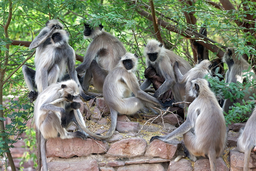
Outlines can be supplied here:
<path id="1" fill-rule="evenodd" d="M 109 137 L 114 134 L 118 114 L 132 116 L 144 107 L 164 109 L 172 106 L 172 101 L 161 103 L 140 89 L 135 75 L 137 58 L 137 55 L 126 53 L 105 79 L 103 94 L 111 115 Z M 135 97 L 131 97 L 131 93 Z"/>

